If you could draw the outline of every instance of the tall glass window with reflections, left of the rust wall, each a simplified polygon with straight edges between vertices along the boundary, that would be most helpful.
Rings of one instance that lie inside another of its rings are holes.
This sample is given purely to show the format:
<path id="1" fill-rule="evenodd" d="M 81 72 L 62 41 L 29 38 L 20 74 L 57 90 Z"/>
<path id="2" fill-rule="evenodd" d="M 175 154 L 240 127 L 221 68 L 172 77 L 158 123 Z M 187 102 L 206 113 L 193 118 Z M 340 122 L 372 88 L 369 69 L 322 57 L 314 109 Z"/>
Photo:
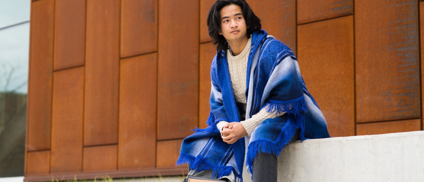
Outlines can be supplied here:
<path id="1" fill-rule="evenodd" d="M 0 177 L 24 175 L 30 3 L 0 2 Z"/>

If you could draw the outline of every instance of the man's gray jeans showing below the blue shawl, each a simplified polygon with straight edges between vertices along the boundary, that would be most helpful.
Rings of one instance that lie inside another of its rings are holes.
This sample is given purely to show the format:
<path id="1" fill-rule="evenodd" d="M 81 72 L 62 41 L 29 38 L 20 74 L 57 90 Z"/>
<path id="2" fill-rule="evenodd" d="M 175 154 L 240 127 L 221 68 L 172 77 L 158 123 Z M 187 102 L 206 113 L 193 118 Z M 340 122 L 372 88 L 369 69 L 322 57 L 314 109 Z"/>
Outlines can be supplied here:
<path id="1" fill-rule="evenodd" d="M 289 141 L 289 144 L 299 139 L 300 139 L 299 130 L 297 130 L 293 138 Z M 277 166 L 278 166 L 277 155 L 259 152 L 253 161 L 253 167 L 252 167 L 253 182 L 276 182 L 277 170 L 278 170 Z M 212 178 L 212 170 L 204 170 L 200 172 L 196 170 L 190 170 L 189 175 Z M 228 182 L 235 181 L 234 174 L 230 174 L 229 176 L 224 176 L 221 179 L 226 180 Z"/>

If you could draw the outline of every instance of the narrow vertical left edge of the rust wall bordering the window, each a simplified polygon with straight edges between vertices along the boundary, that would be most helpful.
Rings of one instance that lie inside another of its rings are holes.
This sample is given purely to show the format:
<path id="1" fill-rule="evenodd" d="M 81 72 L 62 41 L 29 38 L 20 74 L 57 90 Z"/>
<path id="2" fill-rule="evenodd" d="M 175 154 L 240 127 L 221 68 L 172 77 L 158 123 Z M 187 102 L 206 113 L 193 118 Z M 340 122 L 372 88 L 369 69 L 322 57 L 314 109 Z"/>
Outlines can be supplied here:
<path id="1" fill-rule="evenodd" d="M 28 125 L 29 125 L 29 91 L 31 85 L 31 39 L 32 39 L 32 13 L 33 13 L 33 2 L 30 2 L 30 18 L 29 18 L 29 53 L 28 53 L 28 84 L 27 84 L 27 116 L 25 125 L 25 158 L 24 158 L 24 176 L 28 173 Z"/>

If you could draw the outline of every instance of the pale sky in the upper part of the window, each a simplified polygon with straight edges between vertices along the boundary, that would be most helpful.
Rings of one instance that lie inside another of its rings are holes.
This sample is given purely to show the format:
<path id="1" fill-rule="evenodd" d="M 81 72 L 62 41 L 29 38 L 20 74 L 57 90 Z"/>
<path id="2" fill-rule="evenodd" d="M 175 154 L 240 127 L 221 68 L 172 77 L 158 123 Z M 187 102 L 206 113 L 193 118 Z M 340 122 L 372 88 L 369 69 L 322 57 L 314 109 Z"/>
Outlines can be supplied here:
<path id="1" fill-rule="evenodd" d="M 31 0 L 0 0 L 0 92 L 27 93 L 30 7 Z"/>

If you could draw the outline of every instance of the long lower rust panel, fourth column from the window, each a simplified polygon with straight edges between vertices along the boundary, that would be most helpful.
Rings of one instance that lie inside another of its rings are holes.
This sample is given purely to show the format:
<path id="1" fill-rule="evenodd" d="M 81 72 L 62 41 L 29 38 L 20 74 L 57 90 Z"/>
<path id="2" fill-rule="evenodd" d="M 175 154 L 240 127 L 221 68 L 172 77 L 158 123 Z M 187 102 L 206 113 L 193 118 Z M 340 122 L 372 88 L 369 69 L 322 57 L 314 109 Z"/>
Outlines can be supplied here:
<path id="1" fill-rule="evenodd" d="M 157 54 L 121 60 L 119 169 L 155 166 Z"/>

